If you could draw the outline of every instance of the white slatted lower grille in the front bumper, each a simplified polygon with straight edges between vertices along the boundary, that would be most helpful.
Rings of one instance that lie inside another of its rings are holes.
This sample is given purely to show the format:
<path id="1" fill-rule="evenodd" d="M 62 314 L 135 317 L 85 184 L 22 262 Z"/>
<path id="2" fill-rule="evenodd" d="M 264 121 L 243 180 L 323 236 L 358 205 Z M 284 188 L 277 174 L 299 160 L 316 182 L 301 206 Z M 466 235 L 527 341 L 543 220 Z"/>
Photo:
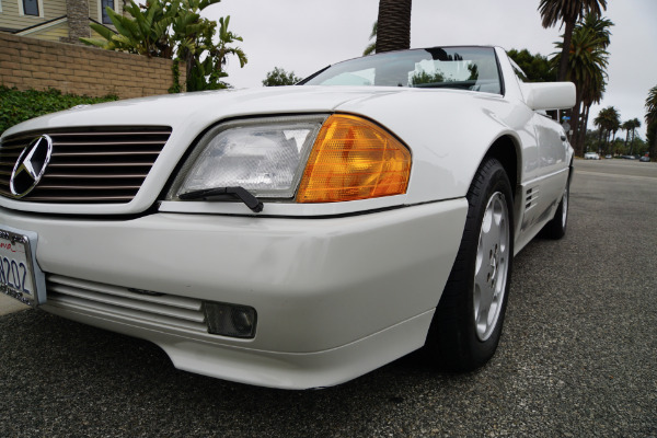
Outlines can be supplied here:
<path id="1" fill-rule="evenodd" d="M 129 289 L 60 275 L 46 276 L 47 306 L 90 310 L 207 334 L 200 300 Z"/>

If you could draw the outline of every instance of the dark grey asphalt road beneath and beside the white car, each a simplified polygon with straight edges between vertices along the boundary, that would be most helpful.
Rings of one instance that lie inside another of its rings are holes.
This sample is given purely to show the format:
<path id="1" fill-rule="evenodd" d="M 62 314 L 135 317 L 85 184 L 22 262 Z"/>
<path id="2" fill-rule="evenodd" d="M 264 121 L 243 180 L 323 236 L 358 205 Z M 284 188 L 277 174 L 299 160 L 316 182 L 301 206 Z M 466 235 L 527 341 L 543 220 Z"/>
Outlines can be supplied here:
<path id="1" fill-rule="evenodd" d="M 657 437 L 657 165 L 576 169 L 568 233 L 516 258 L 498 353 L 476 372 L 414 354 L 337 388 L 269 390 L 26 310 L 0 316 L 0 436 Z"/>

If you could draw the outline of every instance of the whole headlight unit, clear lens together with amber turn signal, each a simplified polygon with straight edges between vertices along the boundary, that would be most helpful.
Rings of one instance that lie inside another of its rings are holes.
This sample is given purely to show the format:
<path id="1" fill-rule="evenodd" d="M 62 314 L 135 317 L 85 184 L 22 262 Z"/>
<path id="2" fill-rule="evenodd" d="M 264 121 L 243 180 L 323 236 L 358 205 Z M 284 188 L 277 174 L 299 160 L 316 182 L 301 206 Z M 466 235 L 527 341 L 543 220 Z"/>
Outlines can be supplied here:
<path id="1" fill-rule="evenodd" d="M 408 149 L 364 118 L 254 118 L 208 131 L 168 198 L 242 187 L 258 198 L 334 203 L 403 194 L 410 174 Z"/>

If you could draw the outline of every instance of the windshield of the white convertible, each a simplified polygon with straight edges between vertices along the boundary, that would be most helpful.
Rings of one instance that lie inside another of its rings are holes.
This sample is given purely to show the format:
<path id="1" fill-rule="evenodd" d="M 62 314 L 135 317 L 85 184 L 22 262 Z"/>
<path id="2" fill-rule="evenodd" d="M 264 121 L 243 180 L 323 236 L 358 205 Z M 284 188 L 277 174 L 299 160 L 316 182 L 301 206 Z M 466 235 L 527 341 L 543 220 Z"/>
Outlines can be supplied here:
<path id="1" fill-rule="evenodd" d="M 300 84 L 451 88 L 502 94 L 492 47 L 434 47 L 370 55 L 331 66 Z"/>

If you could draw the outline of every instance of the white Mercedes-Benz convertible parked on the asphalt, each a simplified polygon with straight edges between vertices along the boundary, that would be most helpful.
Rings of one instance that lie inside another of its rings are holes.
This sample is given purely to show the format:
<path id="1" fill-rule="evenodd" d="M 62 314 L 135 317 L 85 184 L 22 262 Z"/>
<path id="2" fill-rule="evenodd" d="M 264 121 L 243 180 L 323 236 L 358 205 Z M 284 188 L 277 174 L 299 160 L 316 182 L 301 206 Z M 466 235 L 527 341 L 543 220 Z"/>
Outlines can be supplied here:
<path id="1" fill-rule="evenodd" d="M 573 150 L 545 112 L 574 103 L 498 47 L 434 47 L 35 118 L 0 139 L 0 290 L 251 384 L 423 346 L 471 370 L 514 255 L 564 235 Z"/>

